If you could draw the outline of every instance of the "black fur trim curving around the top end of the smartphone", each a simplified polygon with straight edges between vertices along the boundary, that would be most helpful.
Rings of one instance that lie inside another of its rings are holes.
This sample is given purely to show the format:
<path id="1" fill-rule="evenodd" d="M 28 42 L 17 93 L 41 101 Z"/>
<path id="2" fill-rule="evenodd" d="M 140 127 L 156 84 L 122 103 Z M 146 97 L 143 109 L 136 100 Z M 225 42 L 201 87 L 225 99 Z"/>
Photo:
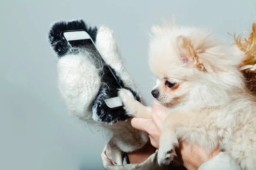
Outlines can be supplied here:
<path id="1" fill-rule="evenodd" d="M 97 27 L 87 26 L 83 20 L 58 21 L 52 25 L 48 34 L 48 40 L 58 57 L 64 56 L 70 50 L 70 45 L 67 40 L 61 37 L 61 32 L 79 29 L 85 30 L 92 37 L 93 41 L 96 41 Z"/>

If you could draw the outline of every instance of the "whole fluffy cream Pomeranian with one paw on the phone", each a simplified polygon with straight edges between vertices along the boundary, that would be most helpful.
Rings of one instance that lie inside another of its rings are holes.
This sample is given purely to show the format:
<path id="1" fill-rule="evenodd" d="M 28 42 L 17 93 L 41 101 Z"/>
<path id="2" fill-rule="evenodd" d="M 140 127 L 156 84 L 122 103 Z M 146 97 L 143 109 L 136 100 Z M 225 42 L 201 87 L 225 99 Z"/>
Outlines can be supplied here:
<path id="1" fill-rule="evenodd" d="M 256 169 L 256 100 L 238 67 L 244 53 L 200 28 L 152 27 L 149 65 L 157 78 L 151 92 L 170 114 L 163 123 L 158 163 L 169 164 L 179 142 L 231 153 L 244 170 Z M 119 96 L 130 116 L 151 118 L 130 91 Z M 178 142 L 179 141 L 179 142 Z"/>

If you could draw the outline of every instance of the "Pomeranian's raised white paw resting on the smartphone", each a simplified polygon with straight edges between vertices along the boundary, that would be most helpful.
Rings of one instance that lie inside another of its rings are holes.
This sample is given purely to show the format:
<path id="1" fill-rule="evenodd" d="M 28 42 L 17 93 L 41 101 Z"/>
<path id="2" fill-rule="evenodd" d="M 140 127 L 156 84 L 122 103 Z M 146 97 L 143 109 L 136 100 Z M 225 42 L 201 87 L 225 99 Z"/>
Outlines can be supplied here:
<path id="1" fill-rule="evenodd" d="M 128 116 L 134 116 L 134 113 L 136 111 L 135 107 L 138 101 L 135 99 L 131 91 L 121 88 L 119 89 L 118 96 L 121 99 Z"/>

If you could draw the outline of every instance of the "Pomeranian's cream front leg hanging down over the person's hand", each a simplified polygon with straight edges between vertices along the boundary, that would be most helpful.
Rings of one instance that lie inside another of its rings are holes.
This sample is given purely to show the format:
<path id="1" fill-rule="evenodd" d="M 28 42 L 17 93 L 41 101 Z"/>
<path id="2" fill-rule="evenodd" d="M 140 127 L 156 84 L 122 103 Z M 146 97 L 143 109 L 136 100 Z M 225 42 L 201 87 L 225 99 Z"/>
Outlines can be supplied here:
<path id="1" fill-rule="evenodd" d="M 173 160 L 175 147 L 179 146 L 178 141 L 198 144 L 210 153 L 218 147 L 219 127 L 212 123 L 205 123 L 207 114 L 193 112 L 173 112 L 167 116 L 163 123 L 162 134 L 159 141 L 157 161 L 159 164 L 169 164 Z"/>

